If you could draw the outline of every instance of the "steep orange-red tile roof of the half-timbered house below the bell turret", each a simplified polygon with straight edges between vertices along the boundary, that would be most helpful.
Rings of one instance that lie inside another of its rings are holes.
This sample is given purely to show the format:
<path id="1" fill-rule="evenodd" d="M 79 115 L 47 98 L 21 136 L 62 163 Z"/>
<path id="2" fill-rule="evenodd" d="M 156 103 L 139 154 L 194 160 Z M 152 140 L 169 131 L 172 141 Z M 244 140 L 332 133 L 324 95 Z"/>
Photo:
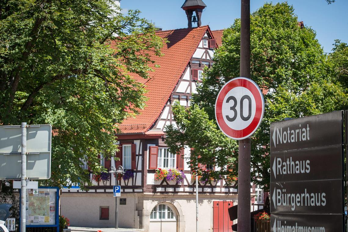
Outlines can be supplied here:
<path id="1" fill-rule="evenodd" d="M 150 80 L 144 80 L 136 74 L 131 74 L 139 82 L 146 82 L 148 92 L 146 106 L 135 118 L 127 118 L 119 126 L 122 133 L 145 133 L 159 117 L 163 107 L 172 94 L 183 71 L 193 53 L 203 38 L 209 26 L 195 28 L 158 31 L 156 35 L 165 38 L 169 43 L 164 44 L 161 52 L 164 56 L 153 55 L 151 59 L 160 65 L 150 73 Z M 155 65 L 153 64 L 153 65 Z"/>

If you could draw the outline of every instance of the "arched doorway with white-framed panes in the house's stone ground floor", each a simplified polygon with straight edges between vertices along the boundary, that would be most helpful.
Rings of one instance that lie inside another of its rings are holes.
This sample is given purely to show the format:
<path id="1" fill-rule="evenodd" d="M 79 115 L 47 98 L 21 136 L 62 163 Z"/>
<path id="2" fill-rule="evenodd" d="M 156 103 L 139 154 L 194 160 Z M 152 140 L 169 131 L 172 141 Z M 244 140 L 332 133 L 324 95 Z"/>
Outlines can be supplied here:
<path id="1" fill-rule="evenodd" d="M 165 202 L 159 203 L 150 214 L 150 231 L 176 232 L 177 217 L 174 206 Z"/>

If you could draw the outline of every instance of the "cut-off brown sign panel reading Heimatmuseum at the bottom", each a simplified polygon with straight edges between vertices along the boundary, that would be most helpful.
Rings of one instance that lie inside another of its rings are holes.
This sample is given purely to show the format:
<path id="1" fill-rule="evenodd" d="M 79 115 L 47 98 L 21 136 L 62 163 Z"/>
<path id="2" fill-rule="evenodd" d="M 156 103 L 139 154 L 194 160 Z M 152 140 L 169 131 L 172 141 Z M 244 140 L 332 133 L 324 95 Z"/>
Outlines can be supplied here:
<path id="1" fill-rule="evenodd" d="M 272 214 L 271 232 L 344 231 L 342 214 Z"/>

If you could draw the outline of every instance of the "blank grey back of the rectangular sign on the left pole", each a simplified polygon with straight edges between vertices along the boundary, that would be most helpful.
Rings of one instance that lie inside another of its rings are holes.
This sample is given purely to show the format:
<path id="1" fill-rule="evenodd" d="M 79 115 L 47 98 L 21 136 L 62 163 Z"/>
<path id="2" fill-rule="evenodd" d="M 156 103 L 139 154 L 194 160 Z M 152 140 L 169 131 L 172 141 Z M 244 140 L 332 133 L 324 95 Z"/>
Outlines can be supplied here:
<path id="1" fill-rule="evenodd" d="M 51 176 L 51 125 L 28 125 L 26 129 L 26 177 L 49 179 Z M 0 126 L 0 179 L 22 176 L 22 128 Z"/>

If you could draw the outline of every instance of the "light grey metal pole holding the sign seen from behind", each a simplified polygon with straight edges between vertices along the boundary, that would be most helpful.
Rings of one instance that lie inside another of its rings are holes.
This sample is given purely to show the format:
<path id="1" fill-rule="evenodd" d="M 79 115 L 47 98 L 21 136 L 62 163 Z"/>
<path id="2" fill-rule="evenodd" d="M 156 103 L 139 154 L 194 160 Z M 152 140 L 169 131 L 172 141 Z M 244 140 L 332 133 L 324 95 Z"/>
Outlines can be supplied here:
<path id="1" fill-rule="evenodd" d="M 22 176 L 21 176 L 21 232 L 25 232 L 25 206 L 26 206 L 26 122 L 22 122 Z"/>

